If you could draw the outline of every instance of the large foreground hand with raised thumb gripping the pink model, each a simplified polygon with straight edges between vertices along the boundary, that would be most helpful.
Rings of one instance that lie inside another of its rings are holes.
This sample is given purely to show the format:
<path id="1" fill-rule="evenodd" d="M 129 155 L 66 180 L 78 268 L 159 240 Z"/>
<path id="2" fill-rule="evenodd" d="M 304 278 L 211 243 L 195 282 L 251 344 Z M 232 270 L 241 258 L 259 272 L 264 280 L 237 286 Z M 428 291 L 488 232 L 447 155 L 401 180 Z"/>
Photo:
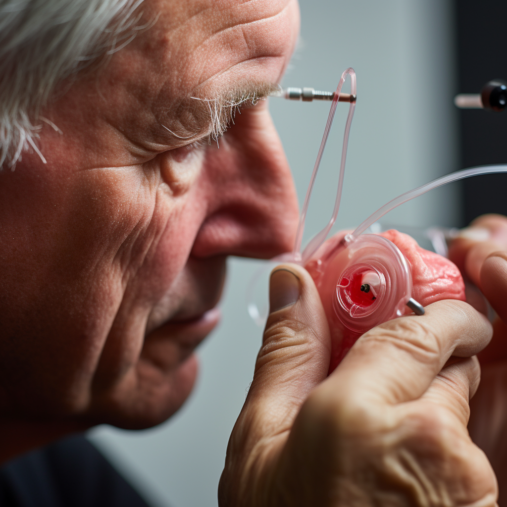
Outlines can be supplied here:
<path id="1" fill-rule="evenodd" d="M 493 470 L 466 430 L 484 316 L 430 304 L 361 336 L 327 377 L 330 332 L 309 274 L 276 268 L 270 304 L 222 507 L 495 505 Z"/>

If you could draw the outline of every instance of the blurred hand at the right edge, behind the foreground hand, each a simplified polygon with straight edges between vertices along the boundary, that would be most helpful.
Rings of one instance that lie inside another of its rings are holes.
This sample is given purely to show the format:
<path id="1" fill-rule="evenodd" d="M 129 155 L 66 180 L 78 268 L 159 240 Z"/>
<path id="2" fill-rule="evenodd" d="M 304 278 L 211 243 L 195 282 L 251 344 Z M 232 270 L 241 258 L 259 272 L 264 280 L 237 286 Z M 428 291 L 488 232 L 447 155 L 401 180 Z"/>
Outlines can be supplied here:
<path id="1" fill-rule="evenodd" d="M 470 404 L 470 436 L 487 454 L 498 477 L 500 505 L 507 504 L 507 218 L 484 215 L 449 249 L 451 258 L 482 291 L 498 317 L 493 339 L 479 354 L 481 385 Z"/>

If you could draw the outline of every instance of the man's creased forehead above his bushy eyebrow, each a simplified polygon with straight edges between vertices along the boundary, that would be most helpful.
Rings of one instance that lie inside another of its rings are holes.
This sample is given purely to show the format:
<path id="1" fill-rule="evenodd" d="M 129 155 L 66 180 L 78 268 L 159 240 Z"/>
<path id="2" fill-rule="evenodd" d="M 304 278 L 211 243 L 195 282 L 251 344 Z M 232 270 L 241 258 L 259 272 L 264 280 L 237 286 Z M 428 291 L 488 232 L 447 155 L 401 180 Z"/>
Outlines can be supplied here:
<path id="1" fill-rule="evenodd" d="M 154 58 L 180 98 L 212 98 L 234 82 L 276 83 L 299 29 L 294 0 L 145 0 Z"/>

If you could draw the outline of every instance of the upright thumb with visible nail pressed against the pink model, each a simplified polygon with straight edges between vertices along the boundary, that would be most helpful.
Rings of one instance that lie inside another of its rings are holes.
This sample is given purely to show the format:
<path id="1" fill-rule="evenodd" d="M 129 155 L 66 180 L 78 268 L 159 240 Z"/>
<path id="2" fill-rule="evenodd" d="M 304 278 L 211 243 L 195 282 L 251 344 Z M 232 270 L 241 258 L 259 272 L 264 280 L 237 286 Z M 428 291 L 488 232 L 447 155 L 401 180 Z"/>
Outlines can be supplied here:
<path id="1" fill-rule="evenodd" d="M 284 264 L 273 270 L 269 300 L 245 405 L 255 412 L 259 427 L 279 434 L 290 429 L 308 393 L 327 377 L 331 338 L 317 288 L 301 266 Z"/>

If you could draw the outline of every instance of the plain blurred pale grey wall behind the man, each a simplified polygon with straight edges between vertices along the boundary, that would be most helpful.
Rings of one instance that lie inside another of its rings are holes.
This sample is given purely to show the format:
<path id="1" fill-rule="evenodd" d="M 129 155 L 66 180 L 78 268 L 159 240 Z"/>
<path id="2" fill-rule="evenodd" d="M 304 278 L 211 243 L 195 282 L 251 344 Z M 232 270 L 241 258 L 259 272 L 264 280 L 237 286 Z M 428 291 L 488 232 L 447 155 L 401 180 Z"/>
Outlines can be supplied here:
<path id="1" fill-rule="evenodd" d="M 357 74 L 336 229 L 356 226 L 392 197 L 457 169 L 450 0 L 301 0 L 301 14 L 301 42 L 283 85 L 335 90 L 345 68 L 352 66 Z M 271 99 L 270 107 L 302 202 L 329 103 Z M 307 239 L 323 227 L 333 207 L 347 109 L 339 104 L 314 190 Z M 457 188 L 445 187 L 397 208 L 387 220 L 411 226 L 459 224 L 458 198 Z M 229 434 L 261 341 L 244 297 L 258 265 L 230 260 L 223 321 L 198 351 L 200 378 L 179 413 L 146 431 L 101 426 L 89 432 L 154 505 L 217 504 Z"/>

